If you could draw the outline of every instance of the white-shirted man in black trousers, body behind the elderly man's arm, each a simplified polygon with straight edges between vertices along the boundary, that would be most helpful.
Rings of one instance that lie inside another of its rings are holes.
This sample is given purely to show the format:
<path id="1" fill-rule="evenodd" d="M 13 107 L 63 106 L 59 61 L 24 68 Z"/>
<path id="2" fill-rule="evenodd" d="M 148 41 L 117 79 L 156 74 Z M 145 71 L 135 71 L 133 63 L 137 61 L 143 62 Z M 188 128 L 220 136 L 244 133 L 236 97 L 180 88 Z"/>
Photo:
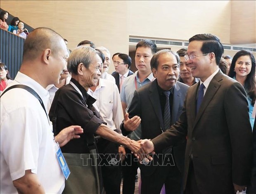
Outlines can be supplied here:
<path id="1" fill-rule="evenodd" d="M 121 134 L 120 125 L 123 121 L 123 110 L 116 84 L 100 78 L 97 86 L 88 89 L 88 94 L 96 99 L 93 106 L 100 113 L 102 120 L 107 123 L 109 128 Z M 119 147 L 119 144 L 115 142 L 100 137 L 96 140 L 99 153 L 105 154 L 103 159 L 109 164 L 109 166 L 101 166 L 104 189 L 109 194 L 120 194 L 121 158 L 118 154 L 126 154 L 125 149 L 122 146 Z M 111 164 L 113 157 L 117 162 Z"/>

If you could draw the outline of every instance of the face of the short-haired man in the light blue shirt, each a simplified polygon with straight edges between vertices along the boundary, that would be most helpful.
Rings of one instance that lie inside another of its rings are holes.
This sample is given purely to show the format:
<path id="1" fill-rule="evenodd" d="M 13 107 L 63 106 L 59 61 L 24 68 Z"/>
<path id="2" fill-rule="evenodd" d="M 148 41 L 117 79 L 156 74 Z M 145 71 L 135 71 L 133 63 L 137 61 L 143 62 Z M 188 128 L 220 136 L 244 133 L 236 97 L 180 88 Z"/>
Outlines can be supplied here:
<path id="1" fill-rule="evenodd" d="M 150 60 L 153 57 L 150 47 L 138 47 L 135 53 L 135 66 L 139 72 L 150 73 Z"/>

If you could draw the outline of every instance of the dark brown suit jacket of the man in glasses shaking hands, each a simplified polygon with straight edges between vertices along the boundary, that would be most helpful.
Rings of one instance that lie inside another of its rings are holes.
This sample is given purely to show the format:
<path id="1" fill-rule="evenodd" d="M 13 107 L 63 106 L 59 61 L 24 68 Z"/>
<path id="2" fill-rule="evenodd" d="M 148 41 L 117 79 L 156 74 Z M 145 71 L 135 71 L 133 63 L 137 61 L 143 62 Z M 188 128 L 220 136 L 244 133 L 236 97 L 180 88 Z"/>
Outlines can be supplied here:
<path id="1" fill-rule="evenodd" d="M 179 121 L 152 140 L 156 151 L 187 135 L 184 185 L 193 154 L 194 173 L 203 194 L 230 194 L 233 185 L 247 185 L 252 133 L 243 86 L 219 71 L 211 80 L 196 115 L 199 83 L 187 91 Z"/>

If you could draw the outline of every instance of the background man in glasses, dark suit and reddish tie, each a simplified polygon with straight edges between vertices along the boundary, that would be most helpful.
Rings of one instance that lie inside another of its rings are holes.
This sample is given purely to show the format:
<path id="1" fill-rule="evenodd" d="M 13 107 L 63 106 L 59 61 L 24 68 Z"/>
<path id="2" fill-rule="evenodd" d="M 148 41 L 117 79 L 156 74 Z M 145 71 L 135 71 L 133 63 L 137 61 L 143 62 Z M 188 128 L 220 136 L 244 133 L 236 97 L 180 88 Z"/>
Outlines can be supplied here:
<path id="1" fill-rule="evenodd" d="M 133 75 L 133 72 L 130 71 L 130 65 L 132 64 L 132 59 L 127 54 L 116 54 L 113 55 L 113 63 L 115 66 L 115 70 L 111 75 L 116 80 L 116 85 L 119 90 L 119 93 L 121 91 L 122 84 L 124 83 L 124 80 L 130 76 Z"/>

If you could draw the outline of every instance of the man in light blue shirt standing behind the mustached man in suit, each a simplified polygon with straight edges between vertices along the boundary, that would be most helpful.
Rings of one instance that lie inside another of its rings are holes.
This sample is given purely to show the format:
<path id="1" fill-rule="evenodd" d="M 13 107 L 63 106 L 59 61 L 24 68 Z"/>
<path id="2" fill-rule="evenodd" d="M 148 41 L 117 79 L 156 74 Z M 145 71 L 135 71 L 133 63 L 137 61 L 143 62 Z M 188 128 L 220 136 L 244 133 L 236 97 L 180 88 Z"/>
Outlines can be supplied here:
<path id="1" fill-rule="evenodd" d="M 129 118 L 127 113 L 130 103 L 133 99 L 134 91 L 143 85 L 154 80 L 153 73 L 151 71 L 150 60 L 156 53 L 156 44 L 151 40 L 142 40 L 136 45 L 135 52 L 135 66 L 138 69 L 133 75 L 126 78 L 123 83 L 122 90 L 120 93 L 124 120 L 132 124 L 133 118 Z M 140 118 L 137 118 L 140 122 Z M 140 126 L 131 132 L 128 137 L 131 140 L 139 140 L 141 135 Z M 123 165 L 123 194 L 133 194 L 135 189 L 135 176 L 137 175 L 137 160 L 133 154 L 126 149 L 126 161 Z M 129 163 L 130 162 L 130 163 Z"/>

